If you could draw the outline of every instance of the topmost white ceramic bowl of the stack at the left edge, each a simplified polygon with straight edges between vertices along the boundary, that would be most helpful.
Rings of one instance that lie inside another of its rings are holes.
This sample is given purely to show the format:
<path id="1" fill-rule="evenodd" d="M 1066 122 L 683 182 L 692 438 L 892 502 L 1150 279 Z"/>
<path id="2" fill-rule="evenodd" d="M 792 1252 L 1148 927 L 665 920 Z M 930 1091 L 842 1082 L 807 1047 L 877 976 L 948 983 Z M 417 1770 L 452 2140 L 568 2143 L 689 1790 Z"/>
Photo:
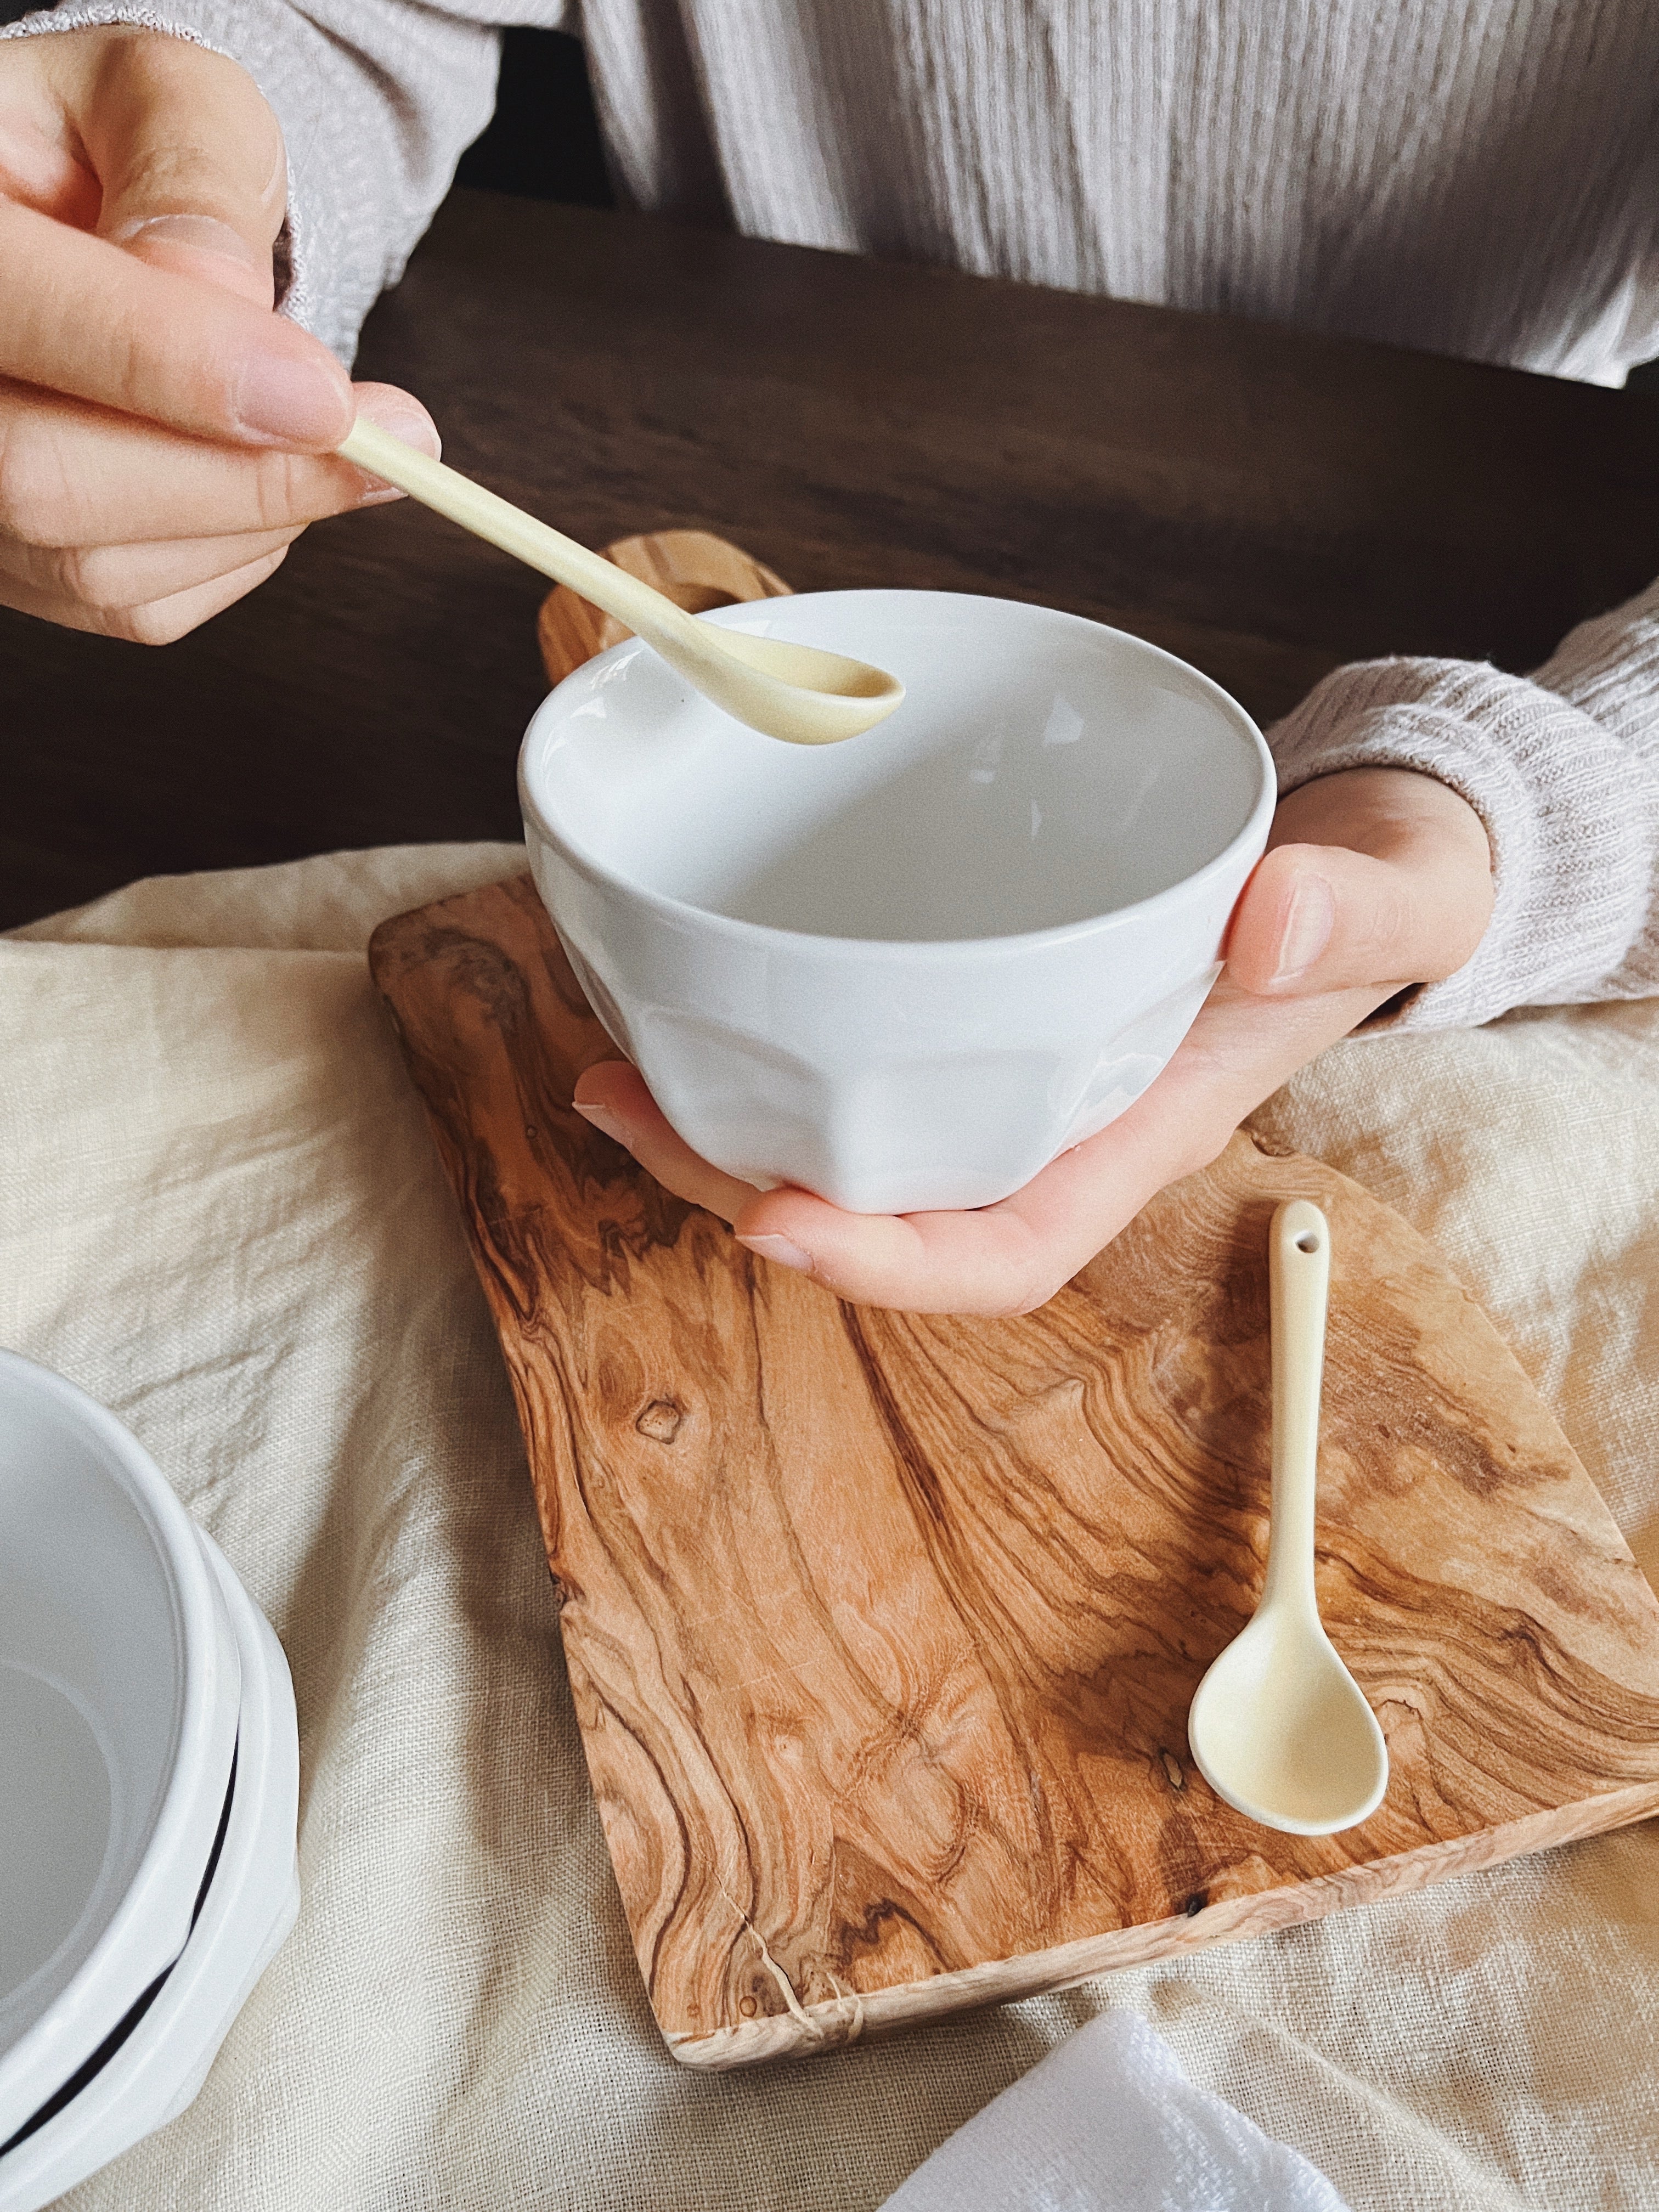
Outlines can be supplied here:
<path id="1" fill-rule="evenodd" d="M 0 1352 L 0 2143 L 179 1958 L 239 1703 L 219 1577 L 155 1462 Z"/>

